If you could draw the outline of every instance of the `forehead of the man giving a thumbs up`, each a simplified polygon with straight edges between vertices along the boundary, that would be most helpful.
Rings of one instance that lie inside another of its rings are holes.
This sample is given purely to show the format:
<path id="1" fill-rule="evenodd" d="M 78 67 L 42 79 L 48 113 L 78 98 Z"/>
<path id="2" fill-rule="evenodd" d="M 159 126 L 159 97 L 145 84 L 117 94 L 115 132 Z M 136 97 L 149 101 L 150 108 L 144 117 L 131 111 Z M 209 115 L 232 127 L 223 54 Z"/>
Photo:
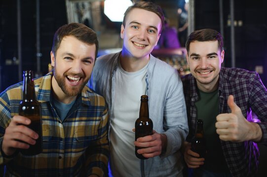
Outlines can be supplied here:
<path id="1" fill-rule="evenodd" d="M 190 43 L 189 46 L 189 53 L 195 54 L 210 54 L 210 53 L 217 53 L 219 51 L 218 48 L 218 41 L 193 41 Z"/>

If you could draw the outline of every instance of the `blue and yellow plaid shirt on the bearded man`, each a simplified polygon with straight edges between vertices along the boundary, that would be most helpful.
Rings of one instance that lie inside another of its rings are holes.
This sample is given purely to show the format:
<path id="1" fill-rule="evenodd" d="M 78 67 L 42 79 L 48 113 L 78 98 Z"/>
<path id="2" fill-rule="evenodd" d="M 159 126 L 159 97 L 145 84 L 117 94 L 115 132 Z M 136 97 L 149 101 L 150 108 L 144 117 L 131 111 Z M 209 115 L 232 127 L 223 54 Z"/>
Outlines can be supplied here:
<path id="1" fill-rule="evenodd" d="M 6 158 L 0 152 L 0 165 L 6 166 L 8 176 L 107 176 L 108 110 L 104 98 L 85 86 L 62 122 L 51 104 L 52 75 L 35 79 L 42 108 L 42 153 L 16 153 Z M 22 95 L 22 82 L 0 94 L 0 145 L 11 118 L 18 115 Z"/>

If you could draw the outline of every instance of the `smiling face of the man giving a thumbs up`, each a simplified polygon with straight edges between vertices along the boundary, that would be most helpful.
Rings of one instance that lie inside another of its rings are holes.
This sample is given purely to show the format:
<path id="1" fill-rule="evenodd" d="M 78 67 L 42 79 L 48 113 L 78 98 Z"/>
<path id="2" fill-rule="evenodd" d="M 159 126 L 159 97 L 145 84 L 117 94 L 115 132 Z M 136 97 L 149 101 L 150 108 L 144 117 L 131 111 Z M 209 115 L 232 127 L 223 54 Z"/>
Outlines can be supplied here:
<path id="1" fill-rule="evenodd" d="M 218 49 L 218 41 L 193 41 L 190 43 L 187 61 L 191 74 L 196 79 L 198 89 L 210 92 L 218 88 L 224 53 Z"/>

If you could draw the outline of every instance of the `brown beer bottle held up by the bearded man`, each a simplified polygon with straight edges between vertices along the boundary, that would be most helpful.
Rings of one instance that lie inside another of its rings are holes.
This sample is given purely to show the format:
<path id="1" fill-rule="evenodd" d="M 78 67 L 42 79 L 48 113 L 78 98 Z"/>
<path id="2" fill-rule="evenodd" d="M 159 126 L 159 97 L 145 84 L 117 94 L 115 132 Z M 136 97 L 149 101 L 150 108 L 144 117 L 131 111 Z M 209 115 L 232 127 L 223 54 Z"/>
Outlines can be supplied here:
<path id="1" fill-rule="evenodd" d="M 24 155 L 37 155 L 42 152 L 41 106 L 36 99 L 33 78 L 33 71 L 23 71 L 23 99 L 19 105 L 19 115 L 31 119 L 31 124 L 27 127 L 38 133 L 39 137 L 35 145 L 30 145 L 28 149 L 20 149 Z"/>

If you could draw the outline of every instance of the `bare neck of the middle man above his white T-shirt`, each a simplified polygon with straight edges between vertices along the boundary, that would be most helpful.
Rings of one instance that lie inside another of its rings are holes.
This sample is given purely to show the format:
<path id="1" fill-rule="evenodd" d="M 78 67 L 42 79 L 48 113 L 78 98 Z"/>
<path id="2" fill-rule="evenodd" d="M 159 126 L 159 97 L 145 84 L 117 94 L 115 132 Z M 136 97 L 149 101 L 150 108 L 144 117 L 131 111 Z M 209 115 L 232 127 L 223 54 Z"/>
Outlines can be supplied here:
<path id="1" fill-rule="evenodd" d="M 121 53 L 119 55 L 119 62 L 124 71 L 127 72 L 136 72 L 142 69 L 148 64 L 150 56 L 144 58 L 135 58 L 132 56 L 124 55 Z"/>

